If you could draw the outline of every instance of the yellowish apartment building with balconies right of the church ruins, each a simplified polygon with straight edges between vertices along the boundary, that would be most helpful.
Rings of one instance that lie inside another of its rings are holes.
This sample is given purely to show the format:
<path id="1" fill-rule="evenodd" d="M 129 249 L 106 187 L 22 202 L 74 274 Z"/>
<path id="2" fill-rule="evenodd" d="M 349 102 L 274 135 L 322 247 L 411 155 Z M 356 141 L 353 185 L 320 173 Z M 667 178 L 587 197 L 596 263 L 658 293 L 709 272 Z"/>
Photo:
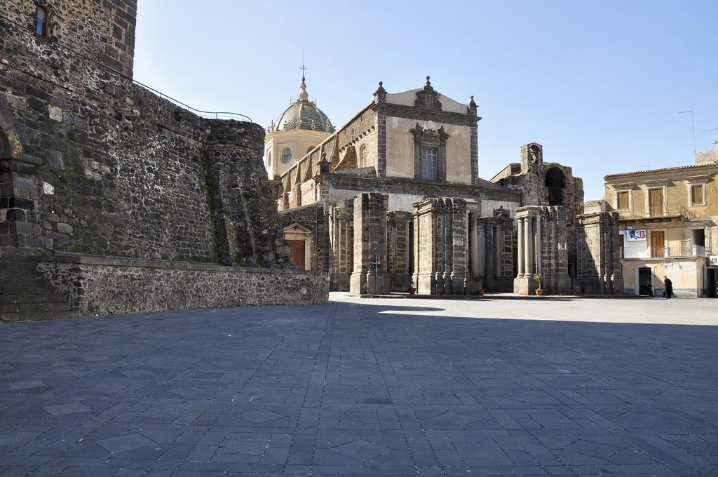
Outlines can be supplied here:
<path id="1" fill-rule="evenodd" d="M 605 200 L 619 214 L 625 292 L 716 297 L 718 142 L 696 164 L 607 175 Z"/>

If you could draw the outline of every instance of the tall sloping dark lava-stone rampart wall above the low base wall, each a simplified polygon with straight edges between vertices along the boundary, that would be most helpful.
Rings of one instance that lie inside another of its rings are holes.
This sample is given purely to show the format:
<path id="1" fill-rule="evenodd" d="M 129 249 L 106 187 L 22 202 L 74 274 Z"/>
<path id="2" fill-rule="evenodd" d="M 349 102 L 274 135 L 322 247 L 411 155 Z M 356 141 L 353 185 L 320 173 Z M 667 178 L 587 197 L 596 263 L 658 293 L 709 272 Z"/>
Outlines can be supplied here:
<path id="1" fill-rule="evenodd" d="M 68 2 L 70 3 L 70 2 Z M 0 125 L 34 177 L 39 246 L 141 259 L 288 259 L 264 129 L 202 119 L 0 20 Z M 268 218 L 264 218 L 268 216 Z"/>

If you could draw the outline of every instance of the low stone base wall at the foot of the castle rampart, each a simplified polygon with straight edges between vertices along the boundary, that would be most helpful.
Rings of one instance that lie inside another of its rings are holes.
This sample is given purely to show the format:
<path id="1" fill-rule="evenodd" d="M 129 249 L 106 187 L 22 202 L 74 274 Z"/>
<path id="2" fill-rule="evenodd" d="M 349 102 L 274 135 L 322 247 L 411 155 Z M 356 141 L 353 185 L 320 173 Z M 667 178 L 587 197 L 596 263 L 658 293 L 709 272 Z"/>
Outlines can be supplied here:
<path id="1" fill-rule="evenodd" d="M 39 270 L 80 316 L 325 302 L 329 281 L 298 269 L 50 256 Z"/>

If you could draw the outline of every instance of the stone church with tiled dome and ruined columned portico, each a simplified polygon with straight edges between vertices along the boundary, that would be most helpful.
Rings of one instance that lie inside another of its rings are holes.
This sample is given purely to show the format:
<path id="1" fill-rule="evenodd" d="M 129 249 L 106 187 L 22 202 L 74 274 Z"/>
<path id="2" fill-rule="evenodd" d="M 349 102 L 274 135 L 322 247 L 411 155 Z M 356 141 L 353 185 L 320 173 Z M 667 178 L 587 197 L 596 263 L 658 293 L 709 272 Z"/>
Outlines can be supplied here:
<path id="1" fill-rule="evenodd" d="M 582 180 L 541 144 L 479 177 L 477 104 L 426 83 L 373 101 L 335 130 L 299 97 L 268 129 L 266 168 L 294 264 L 355 295 L 623 290 L 617 221 L 584 213 Z M 618 284 L 617 284 L 618 283 Z"/>

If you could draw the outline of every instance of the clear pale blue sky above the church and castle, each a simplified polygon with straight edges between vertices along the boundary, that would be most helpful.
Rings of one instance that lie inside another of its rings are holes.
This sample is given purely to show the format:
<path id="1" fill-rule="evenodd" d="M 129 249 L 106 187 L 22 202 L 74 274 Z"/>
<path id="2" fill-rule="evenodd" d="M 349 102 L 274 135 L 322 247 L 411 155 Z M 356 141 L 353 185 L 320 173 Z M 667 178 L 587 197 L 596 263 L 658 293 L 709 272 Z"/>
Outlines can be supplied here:
<path id="1" fill-rule="evenodd" d="M 139 0 L 134 77 L 268 126 L 307 91 L 335 126 L 424 84 L 479 106 L 479 175 L 521 145 L 582 177 L 694 163 L 718 139 L 718 1 Z M 704 132 L 707 129 L 713 131 Z"/>

